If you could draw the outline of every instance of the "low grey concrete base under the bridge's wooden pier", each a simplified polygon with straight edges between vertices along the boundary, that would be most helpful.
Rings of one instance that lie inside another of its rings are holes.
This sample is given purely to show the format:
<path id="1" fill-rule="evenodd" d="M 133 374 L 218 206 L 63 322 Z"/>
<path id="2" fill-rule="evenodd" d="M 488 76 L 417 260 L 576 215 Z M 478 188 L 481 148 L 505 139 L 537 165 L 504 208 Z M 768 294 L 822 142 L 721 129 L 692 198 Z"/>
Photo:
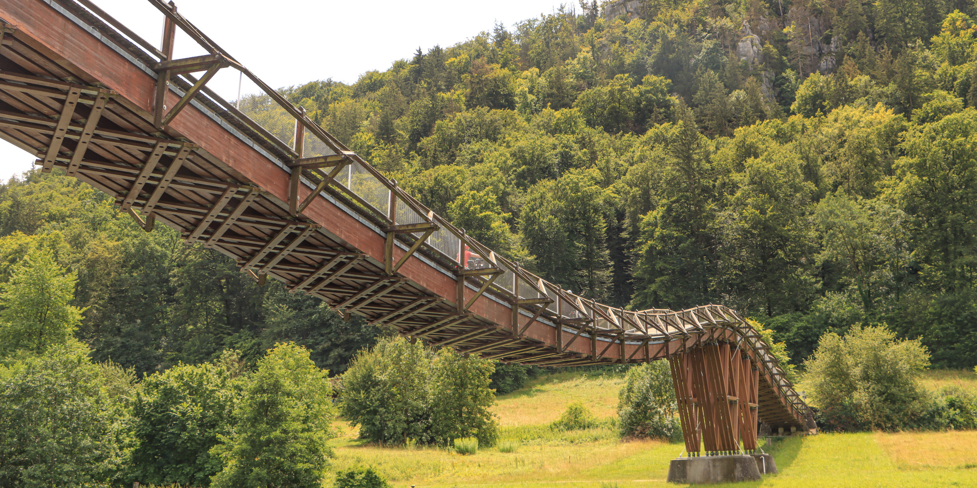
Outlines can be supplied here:
<path id="1" fill-rule="evenodd" d="M 758 481 L 764 463 L 767 472 L 777 472 L 769 454 L 676 458 L 668 467 L 668 481 L 689 484 Z"/>

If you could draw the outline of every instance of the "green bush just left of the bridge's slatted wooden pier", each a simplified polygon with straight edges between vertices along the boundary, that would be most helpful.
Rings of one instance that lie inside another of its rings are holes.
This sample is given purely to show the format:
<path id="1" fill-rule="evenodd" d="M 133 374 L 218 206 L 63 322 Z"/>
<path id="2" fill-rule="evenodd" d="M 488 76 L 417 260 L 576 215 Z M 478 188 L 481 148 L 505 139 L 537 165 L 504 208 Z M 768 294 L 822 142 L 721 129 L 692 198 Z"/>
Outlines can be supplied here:
<path id="1" fill-rule="evenodd" d="M 618 397 L 621 436 L 681 438 L 682 426 L 675 418 L 675 387 L 667 361 L 631 368 Z"/>

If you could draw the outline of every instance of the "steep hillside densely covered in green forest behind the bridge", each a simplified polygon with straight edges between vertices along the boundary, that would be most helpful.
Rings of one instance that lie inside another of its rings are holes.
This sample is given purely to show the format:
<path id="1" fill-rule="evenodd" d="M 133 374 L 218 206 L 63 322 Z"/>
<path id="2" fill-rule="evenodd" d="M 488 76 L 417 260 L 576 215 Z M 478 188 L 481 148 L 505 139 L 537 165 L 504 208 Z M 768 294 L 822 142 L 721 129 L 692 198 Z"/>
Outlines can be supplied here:
<path id="1" fill-rule="evenodd" d="M 581 3 L 419 48 L 352 85 L 282 92 L 431 209 L 574 292 L 729 305 L 797 362 L 827 331 L 887 323 L 934 365 L 970 367 L 968 16 L 974 3 L 941 0 Z M 166 229 L 140 233 L 84 188 L 40 174 L 5 185 L 0 251 L 13 263 L 43 243 L 78 270 L 78 334 L 97 358 L 151 371 L 296 340 L 338 372 L 376 335 Z"/>

